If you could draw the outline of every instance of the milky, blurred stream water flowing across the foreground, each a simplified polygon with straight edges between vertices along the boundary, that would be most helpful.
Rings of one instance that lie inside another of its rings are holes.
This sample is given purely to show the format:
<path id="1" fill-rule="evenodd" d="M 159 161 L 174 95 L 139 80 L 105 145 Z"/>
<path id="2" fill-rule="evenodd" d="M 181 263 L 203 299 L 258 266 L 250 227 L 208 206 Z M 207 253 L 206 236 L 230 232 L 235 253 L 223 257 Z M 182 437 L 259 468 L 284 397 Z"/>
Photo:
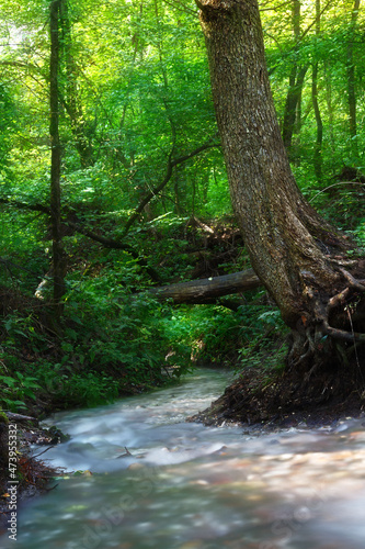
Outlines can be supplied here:
<path id="1" fill-rule="evenodd" d="M 227 376 L 53 417 L 71 439 L 45 457 L 78 473 L 23 508 L 1 547 L 363 549 L 365 419 L 261 435 L 184 423 Z"/>

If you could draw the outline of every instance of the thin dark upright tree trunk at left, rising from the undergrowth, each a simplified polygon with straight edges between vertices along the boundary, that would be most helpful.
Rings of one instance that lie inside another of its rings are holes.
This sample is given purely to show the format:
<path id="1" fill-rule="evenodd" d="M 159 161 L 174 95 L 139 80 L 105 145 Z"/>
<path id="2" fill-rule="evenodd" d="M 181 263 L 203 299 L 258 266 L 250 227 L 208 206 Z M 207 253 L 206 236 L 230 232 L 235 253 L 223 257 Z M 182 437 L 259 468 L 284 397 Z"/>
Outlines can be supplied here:
<path id="1" fill-rule="evenodd" d="M 62 0 L 50 3 L 50 61 L 49 61 L 49 136 L 52 146 L 50 159 L 50 221 L 53 237 L 53 270 L 54 270 L 54 302 L 57 315 L 62 312 L 61 298 L 66 292 L 65 287 L 65 254 L 61 236 L 61 212 L 60 212 L 60 166 L 61 145 L 59 139 L 59 96 L 58 96 L 58 69 L 59 69 L 59 11 Z"/>

